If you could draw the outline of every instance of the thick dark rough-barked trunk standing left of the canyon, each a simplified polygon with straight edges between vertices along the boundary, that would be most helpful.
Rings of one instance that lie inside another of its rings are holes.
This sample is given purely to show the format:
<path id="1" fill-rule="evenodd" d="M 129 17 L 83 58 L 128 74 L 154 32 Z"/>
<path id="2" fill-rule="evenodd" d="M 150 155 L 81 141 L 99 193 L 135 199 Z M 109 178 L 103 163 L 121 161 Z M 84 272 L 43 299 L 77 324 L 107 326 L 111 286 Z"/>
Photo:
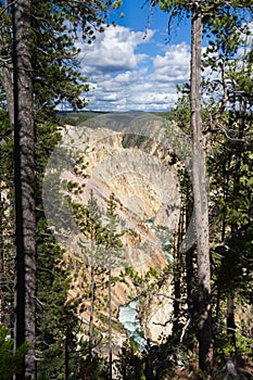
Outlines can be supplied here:
<path id="1" fill-rule="evenodd" d="M 16 379 L 35 379 L 35 279 L 36 221 L 34 199 L 35 132 L 33 115 L 31 59 L 29 51 L 30 1 L 13 3 L 14 72 L 14 185 L 16 214 L 15 349 L 30 345 L 23 373 Z"/>

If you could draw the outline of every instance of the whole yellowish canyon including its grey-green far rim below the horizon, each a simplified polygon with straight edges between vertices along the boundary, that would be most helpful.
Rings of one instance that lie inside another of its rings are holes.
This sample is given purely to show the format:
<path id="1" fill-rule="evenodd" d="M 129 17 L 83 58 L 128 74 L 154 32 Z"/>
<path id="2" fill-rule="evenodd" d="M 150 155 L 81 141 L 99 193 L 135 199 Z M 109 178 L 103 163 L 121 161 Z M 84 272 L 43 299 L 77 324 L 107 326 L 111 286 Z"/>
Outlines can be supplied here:
<path id="1" fill-rule="evenodd" d="M 134 300 L 138 300 L 137 318 L 143 338 L 160 344 L 164 335 L 172 333 L 170 243 L 180 211 L 178 162 L 173 154 L 175 147 L 182 153 L 186 150 L 186 147 L 180 147 L 182 139 L 178 144 L 178 131 L 173 134 L 173 139 L 172 134 L 168 138 L 161 118 L 142 115 L 134 115 L 130 119 L 128 115 L 94 117 L 77 127 L 65 126 L 61 132 L 63 139 L 48 165 L 48 173 L 59 172 L 61 183 L 75 182 L 81 188 L 81 191 L 69 194 L 66 186 L 62 186 L 61 197 L 67 193 L 75 202 L 87 205 L 92 192 L 106 223 L 107 202 L 113 194 L 118 216 L 117 231 L 124 232 L 121 252 L 113 252 L 114 352 L 126 339 L 126 330 L 118 321 L 121 306 Z M 47 186 L 43 191 L 45 199 L 50 199 Z M 55 231 L 55 216 L 49 204 L 47 206 L 46 200 L 47 218 L 66 250 L 66 262 L 73 273 L 68 297 L 83 294 L 79 316 L 84 321 L 84 333 L 88 334 L 90 301 L 87 284 L 90 281 L 91 243 L 79 231 L 66 202 L 61 205 L 63 218 L 69 217 L 67 233 Z M 103 266 L 101 254 L 96 257 L 96 265 Z M 93 324 L 97 339 L 102 339 L 100 350 L 103 351 L 107 344 L 106 265 L 101 273 L 96 279 L 101 287 L 96 289 Z"/>

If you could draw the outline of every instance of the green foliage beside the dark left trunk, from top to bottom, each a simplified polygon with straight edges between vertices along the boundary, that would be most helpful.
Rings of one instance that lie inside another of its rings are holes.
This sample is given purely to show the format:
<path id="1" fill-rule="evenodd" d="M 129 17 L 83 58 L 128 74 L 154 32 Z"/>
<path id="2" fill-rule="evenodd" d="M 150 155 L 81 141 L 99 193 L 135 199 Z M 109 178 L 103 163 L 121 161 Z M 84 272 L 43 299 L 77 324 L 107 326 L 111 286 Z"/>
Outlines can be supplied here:
<path id="1" fill-rule="evenodd" d="M 4 60 L 11 64 L 12 27 L 11 12 L 8 10 L 3 12 L 2 8 L 5 7 L 5 3 L 1 2 L 0 7 L 0 38 L 2 42 L 0 64 L 2 65 Z M 42 208 L 41 182 L 45 167 L 52 149 L 60 138 L 56 126 L 48 121 L 54 118 L 55 105 L 62 101 L 67 101 L 74 109 L 83 107 L 86 104 L 81 97 L 84 91 L 88 90 L 88 86 L 86 78 L 83 78 L 78 73 L 78 51 L 75 48 L 75 41 L 80 28 L 84 39 L 87 40 L 87 43 L 90 43 L 94 39 L 94 28 L 97 30 L 100 29 L 100 31 L 103 29 L 102 22 L 106 15 L 106 10 L 107 4 L 103 1 L 89 1 L 81 4 L 76 1 L 43 1 L 42 3 L 37 0 L 31 1 L 30 50 L 34 67 L 33 84 L 37 122 L 36 182 L 34 185 L 37 210 L 37 338 L 39 342 L 37 349 L 41 356 L 41 360 L 38 364 L 38 376 L 40 378 L 60 379 L 64 377 L 64 340 L 71 329 L 73 334 L 68 342 L 68 349 L 72 354 L 75 354 L 77 345 L 75 333 L 78 331 L 76 300 L 66 302 L 71 282 L 69 273 L 64 266 L 64 253 L 49 232 Z M 1 104 L 4 106 L 4 103 Z M 45 123 L 46 119 L 47 123 Z M 7 135 L 10 132 L 7 131 L 7 128 L 9 128 L 8 124 L 2 124 L 1 127 L 1 169 L 3 168 L 2 173 L 5 176 L 1 176 L 1 180 L 4 180 L 3 183 L 1 182 L 1 187 L 10 191 L 12 185 L 5 180 L 8 169 L 3 165 L 5 164 L 4 159 L 8 151 L 5 140 Z M 3 145 L 2 138 L 4 138 Z M 8 154 L 10 152 L 11 150 L 8 151 Z M 13 164 L 12 160 L 7 161 L 7 163 L 10 167 Z M 12 173 L 12 169 L 10 173 Z M 11 197 L 13 195 L 11 194 Z M 10 204 L 5 203 L 9 212 L 11 208 Z M 4 216 L 7 211 L 5 203 L 4 207 L 1 207 L 1 213 L 3 213 L 1 216 Z M 4 233 L 5 237 L 5 225 Z M 9 235 L 8 240 L 13 243 L 12 236 Z M 1 252 L 2 249 L 1 240 Z M 7 250 L 4 250 L 4 255 L 5 253 Z M 1 254 L 1 266 L 3 266 L 2 258 Z M 3 277 L 1 276 L 1 286 L 2 279 Z M 1 307 L 3 305 L 5 307 L 3 290 L 5 291 L 5 284 L 1 287 Z M 10 291 L 10 289 L 7 290 L 7 292 Z M 4 313 L 7 313 L 5 309 Z M 1 319 L 2 317 L 1 311 Z M 71 371 L 77 367 L 78 357 L 74 356 L 75 358 L 72 355 L 72 363 L 69 363 Z"/>

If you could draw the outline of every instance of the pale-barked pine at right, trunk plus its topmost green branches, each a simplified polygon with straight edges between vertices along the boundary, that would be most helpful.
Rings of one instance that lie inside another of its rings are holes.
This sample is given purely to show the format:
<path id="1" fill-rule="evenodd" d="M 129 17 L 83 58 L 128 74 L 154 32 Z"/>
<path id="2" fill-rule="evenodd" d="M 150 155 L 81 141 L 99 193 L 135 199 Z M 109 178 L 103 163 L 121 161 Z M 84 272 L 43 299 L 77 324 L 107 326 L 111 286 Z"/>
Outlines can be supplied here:
<path id="1" fill-rule="evenodd" d="M 151 1 L 152 7 L 157 2 Z M 172 16 L 191 14 L 191 80 L 190 80 L 190 98 L 191 98 L 191 129 L 192 129 L 192 148 L 193 148 L 193 165 L 192 165 L 192 182 L 195 215 L 195 232 L 198 246 L 198 277 L 199 277 L 199 307 L 200 307 L 200 368 L 211 372 L 212 370 L 212 325 L 211 325 L 211 262 L 210 262 L 210 238 L 208 238 L 208 205 L 207 189 L 205 174 L 205 154 L 206 148 L 203 143 L 202 135 L 202 114 L 201 114 L 201 50 L 202 34 L 212 30 L 216 40 L 219 40 L 218 48 L 227 50 L 229 53 L 238 47 L 238 34 L 236 38 L 230 37 L 231 30 L 242 25 L 242 16 L 240 9 L 249 9 L 250 2 L 243 1 L 217 1 L 204 2 L 199 1 L 169 1 L 159 2 L 162 10 L 170 12 Z M 238 12 L 239 11 L 239 12 Z M 213 15 L 217 14 L 218 17 Z M 215 25 L 215 26 L 214 26 Z M 208 36 L 211 37 L 211 36 Z M 216 58 L 213 56 L 213 60 Z M 216 63 L 216 62 L 215 62 Z M 211 87 L 212 88 L 212 87 Z M 214 89 L 214 87 L 213 87 Z M 226 94 L 223 99 L 222 106 L 218 110 L 217 118 L 220 111 L 226 105 Z"/>

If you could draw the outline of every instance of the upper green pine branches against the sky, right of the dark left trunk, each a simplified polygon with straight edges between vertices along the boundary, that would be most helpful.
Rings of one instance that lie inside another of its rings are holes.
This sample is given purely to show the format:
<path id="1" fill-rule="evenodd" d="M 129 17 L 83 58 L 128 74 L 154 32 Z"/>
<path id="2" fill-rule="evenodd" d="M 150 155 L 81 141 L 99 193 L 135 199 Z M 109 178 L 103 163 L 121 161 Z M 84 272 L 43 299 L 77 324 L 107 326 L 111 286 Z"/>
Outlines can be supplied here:
<path id="1" fill-rule="evenodd" d="M 88 90 L 86 78 L 78 73 L 78 60 L 74 42 L 77 36 L 73 24 L 67 27 L 69 15 L 56 2 L 31 2 L 31 51 L 36 117 L 41 121 L 53 116 L 55 105 L 68 102 L 74 109 L 83 107 L 83 91 Z M 75 22 L 75 18 L 72 20 Z M 77 21 L 80 23 L 80 20 Z M 68 24 L 69 25 L 69 24 Z"/>

